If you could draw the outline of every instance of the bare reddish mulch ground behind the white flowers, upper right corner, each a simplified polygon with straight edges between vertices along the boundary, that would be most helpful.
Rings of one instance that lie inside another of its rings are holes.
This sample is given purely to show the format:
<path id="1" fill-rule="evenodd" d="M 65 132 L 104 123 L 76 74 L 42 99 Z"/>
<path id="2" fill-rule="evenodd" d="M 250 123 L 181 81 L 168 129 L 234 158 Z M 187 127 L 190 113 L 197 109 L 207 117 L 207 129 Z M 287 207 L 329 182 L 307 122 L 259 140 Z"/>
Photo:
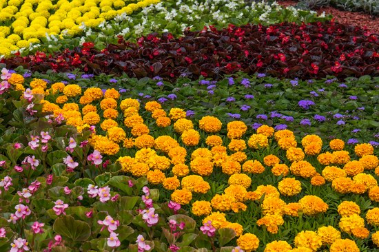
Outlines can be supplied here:
<path id="1" fill-rule="evenodd" d="M 282 6 L 295 6 L 297 1 L 286 0 L 278 1 Z M 333 17 L 336 17 L 336 21 L 339 23 L 345 23 L 347 25 L 357 25 L 360 27 L 369 28 L 371 32 L 379 34 L 379 18 L 373 18 L 369 14 L 362 12 L 349 12 L 345 10 L 338 10 L 333 7 L 325 7 L 317 10 L 318 14 L 325 12 L 326 14 L 332 14 Z"/>

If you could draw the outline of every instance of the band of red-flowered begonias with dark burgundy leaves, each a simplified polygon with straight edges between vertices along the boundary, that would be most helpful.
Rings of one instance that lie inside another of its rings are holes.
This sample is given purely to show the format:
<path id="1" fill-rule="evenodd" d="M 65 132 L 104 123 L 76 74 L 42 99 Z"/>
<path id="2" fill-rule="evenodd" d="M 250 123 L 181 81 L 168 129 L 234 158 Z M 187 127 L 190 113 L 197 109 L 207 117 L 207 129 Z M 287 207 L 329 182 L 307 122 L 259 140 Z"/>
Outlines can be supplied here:
<path id="1" fill-rule="evenodd" d="M 55 70 L 130 77 L 161 76 L 175 79 L 219 78 L 243 71 L 287 78 L 322 78 L 334 75 L 379 76 L 379 36 L 362 28 L 334 23 L 296 25 L 280 23 L 265 27 L 243 25 L 190 32 L 183 37 L 149 34 L 137 43 L 119 39 L 117 45 L 94 50 L 92 43 L 82 48 L 46 56 L 15 56 L 3 60 L 8 68 L 19 65 L 32 71 Z"/>

